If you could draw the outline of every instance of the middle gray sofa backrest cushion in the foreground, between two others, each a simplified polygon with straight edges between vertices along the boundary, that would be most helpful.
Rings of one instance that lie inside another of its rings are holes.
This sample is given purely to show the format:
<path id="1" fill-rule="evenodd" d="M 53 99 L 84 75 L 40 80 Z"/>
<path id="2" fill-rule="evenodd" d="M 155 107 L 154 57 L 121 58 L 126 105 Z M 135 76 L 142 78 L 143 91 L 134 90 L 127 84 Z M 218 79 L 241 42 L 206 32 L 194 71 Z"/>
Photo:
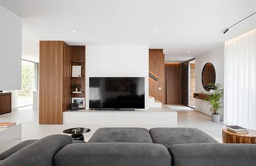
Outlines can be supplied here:
<path id="1" fill-rule="evenodd" d="M 168 149 L 154 143 L 72 143 L 54 157 L 56 166 L 170 166 Z"/>

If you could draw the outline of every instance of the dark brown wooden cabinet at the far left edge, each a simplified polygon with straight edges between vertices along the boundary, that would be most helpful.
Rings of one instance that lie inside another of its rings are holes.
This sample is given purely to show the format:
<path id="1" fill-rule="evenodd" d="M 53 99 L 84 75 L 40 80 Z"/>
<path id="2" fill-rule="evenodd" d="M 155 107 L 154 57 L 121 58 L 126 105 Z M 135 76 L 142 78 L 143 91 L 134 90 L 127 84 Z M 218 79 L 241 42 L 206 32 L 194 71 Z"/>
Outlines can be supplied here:
<path id="1" fill-rule="evenodd" d="M 0 115 L 12 112 L 12 93 L 0 94 Z"/>

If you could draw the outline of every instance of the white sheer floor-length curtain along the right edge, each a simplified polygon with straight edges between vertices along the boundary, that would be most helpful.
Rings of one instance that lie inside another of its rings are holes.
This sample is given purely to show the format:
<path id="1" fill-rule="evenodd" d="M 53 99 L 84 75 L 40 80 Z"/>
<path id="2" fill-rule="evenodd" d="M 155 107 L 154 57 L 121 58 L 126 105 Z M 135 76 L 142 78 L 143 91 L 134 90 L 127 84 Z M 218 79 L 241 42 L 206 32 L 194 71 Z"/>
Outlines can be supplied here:
<path id="1" fill-rule="evenodd" d="M 225 43 L 224 123 L 256 129 L 256 29 Z"/>

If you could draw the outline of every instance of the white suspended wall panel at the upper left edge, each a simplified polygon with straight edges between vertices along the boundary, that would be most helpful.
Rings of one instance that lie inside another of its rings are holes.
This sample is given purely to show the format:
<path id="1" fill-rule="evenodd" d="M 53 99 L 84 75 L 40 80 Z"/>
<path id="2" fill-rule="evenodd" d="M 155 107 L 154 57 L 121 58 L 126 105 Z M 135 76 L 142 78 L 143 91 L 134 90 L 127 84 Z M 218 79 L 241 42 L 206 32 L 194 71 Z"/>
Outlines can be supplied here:
<path id="1" fill-rule="evenodd" d="M 21 89 L 21 25 L 0 6 L 0 90 Z"/>

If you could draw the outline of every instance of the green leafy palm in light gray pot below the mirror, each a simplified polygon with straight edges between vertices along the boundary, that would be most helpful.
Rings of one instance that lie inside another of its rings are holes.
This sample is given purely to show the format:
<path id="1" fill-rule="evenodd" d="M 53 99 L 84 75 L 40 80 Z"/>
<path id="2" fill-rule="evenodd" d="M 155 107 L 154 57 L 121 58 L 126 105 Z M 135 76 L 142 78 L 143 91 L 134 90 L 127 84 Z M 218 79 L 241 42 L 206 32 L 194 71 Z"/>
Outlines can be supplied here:
<path id="1" fill-rule="evenodd" d="M 220 102 L 220 98 L 223 97 L 224 89 L 221 89 L 220 84 L 208 84 L 209 87 L 214 89 L 210 94 L 206 94 L 205 101 L 209 103 L 210 111 L 211 111 L 211 121 L 219 122 L 220 114 L 219 109 L 222 108 L 222 103 Z"/>

